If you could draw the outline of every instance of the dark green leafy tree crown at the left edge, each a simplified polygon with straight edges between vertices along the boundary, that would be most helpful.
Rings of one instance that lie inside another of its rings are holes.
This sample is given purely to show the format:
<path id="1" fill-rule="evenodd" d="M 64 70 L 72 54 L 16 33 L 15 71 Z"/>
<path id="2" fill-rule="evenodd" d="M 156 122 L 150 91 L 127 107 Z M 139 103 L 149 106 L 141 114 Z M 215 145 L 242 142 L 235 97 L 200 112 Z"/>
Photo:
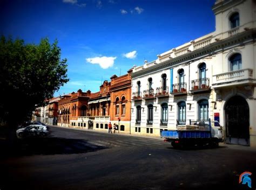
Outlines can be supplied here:
<path id="1" fill-rule="evenodd" d="M 0 118 L 7 122 L 22 121 L 35 105 L 68 82 L 66 59 L 60 59 L 57 40 L 39 45 L 4 36 L 0 39 Z"/>

